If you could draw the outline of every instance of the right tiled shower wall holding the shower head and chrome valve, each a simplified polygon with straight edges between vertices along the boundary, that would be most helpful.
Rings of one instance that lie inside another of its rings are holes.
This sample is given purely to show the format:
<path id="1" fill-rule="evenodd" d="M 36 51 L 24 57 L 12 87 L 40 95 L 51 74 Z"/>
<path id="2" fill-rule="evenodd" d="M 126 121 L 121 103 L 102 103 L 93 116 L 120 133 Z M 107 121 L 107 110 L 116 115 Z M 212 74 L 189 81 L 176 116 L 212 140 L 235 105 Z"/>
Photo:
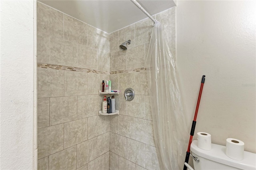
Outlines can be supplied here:
<path id="1" fill-rule="evenodd" d="M 164 28 L 165 37 L 176 61 L 176 8 L 154 16 Z M 160 169 L 154 144 L 150 111 L 150 90 L 147 83 L 146 55 L 152 31 L 152 21 L 142 20 L 110 34 L 110 79 L 120 89 L 116 108 L 120 115 L 110 117 L 110 170 Z M 127 51 L 118 46 L 131 40 Z M 131 87 L 133 101 L 125 101 L 123 92 Z"/>

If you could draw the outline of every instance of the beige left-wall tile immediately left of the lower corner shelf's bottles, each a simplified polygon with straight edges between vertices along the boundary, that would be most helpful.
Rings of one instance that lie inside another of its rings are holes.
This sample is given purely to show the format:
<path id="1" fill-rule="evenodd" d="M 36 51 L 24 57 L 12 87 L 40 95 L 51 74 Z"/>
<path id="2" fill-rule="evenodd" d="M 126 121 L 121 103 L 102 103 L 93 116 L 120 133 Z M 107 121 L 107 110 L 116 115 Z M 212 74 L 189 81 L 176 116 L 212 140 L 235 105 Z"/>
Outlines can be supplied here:
<path id="1" fill-rule="evenodd" d="M 77 119 L 98 115 L 98 95 L 84 95 L 77 97 Z"/>

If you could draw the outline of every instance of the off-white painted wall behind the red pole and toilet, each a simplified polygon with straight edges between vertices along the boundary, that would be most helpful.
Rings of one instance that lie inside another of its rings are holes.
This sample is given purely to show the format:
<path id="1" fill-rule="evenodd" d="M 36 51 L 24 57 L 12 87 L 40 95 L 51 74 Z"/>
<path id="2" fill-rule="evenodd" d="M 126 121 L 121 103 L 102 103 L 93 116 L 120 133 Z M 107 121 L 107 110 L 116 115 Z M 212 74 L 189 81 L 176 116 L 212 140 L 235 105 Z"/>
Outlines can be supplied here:
<path id="1" fill-rule="evenodd" d="M 240 139 L 250 152 L 256 152 L 255 7 L 256 1 L 177 2 L 177 62 L 188 123 L 205 74 L 195 132 L 209 132 L 222 145 L 226 138 Z"/>

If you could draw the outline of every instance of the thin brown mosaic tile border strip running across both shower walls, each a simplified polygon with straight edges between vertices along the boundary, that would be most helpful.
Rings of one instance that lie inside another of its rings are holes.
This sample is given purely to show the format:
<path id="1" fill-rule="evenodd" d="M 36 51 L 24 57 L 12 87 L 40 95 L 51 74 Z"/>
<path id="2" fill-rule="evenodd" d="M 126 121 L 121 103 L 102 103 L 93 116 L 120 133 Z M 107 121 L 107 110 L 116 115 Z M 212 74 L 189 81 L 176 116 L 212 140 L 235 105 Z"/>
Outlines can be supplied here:
<path id="1" fill-rule="evenodd" d="M 57 70 L 65 70 L 65 71 L 78 71 L 78 72 L 86 72 L 86 73 L 98 73 L 98 74 L 121 74 L 121 73 L 134 73 L 140 71 L 149 70 L 146 67 L 138 68 L 138 69 L 130 69 L 130 70 L 119 70 L 119 71 L 98 71 L 94 69 L 85 69 L 79 67 L 70 67 L 66 65 L 56 65 L 56 64 L 47 64 L 47 63 L 37 63 L 37 67 L 44 69 L 57 69 Z"/>

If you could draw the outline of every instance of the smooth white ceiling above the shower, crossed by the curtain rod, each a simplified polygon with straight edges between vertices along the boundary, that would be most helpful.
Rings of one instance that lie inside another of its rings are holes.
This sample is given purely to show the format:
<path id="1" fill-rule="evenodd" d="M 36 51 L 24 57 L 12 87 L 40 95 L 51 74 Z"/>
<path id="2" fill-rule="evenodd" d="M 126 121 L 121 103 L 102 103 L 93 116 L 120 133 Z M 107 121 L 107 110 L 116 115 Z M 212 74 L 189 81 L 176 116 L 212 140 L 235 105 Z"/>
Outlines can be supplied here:
<path id="1" fill-rule="evenodd" d="M 130 0 L 38 0 L 104 32 L 112 33 L 147 18 Z M 176 6 L 173 0 L 138 0 L 150 14 Z"/>

